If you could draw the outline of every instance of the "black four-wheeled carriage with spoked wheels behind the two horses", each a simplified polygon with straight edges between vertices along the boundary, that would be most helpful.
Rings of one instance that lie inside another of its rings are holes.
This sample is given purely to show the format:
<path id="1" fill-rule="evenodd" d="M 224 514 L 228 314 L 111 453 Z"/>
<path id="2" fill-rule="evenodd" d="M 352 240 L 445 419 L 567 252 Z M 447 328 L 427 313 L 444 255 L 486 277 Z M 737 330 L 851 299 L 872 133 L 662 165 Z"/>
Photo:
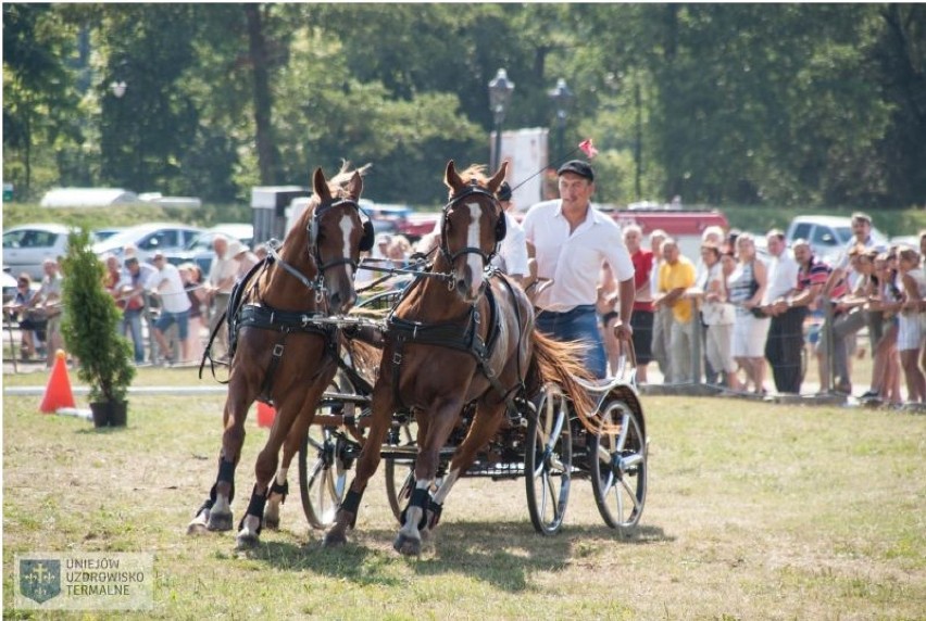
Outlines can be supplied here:
<path id="1" fill-rule="evenodd" d="M 395 303 L 397 297 L 393 292 L 380 294 L 361 303 L 360 309 Z M 341 322 L 350 325 L 351 320 Z M 360 322 L 370 325 L 366 319 Z M 622 368 L 634 369 L 633 352 L 625 351 Z M 633 371 L 626 379 L 620 373 L 608 381 L 581 385 L 593 397 L 604 422 L 602 431 L 592 433 L 583 426 L 573 401 L 550 382 L 528 398 L 515 400 L 516 407 L 505 413 L 506 423 L 479 452 L 464 477 L 524 479 L 530 521 L 543 535 L 560 531 L 572 481 L 589 480 L 604 523 L 626 534 L 639 523 L 647 494 L 648 436 Z M 371 378 L 354 368 L 346 352 L 299 453 L 302 509 L 315 529 L 329 528 L 343 500 L 349 472 L 360 455 L 372 391 Z M 472 414 L 472 409 L 464 409 L 441 448 L 438 479 L 447 474 Z M 381 454 L 389 507 L 401 523 L 403 507 L 411 498 L 417 454 L 413 413 L 393 413 Z"/>

